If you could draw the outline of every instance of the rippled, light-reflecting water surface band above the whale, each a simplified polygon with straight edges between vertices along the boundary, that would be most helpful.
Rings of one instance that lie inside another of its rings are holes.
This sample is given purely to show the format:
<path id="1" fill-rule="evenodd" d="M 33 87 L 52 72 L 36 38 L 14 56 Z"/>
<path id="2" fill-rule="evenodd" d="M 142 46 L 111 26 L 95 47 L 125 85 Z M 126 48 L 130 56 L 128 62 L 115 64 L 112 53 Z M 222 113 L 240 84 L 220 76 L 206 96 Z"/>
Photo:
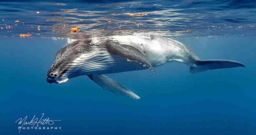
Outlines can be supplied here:
<path id="1" fill-rule="evenodd" d="M 0 12 L 1 37 L 32 34 L 32 37 L 86 38 L 135 32 L 165 37 L 255 35 L 256 19 L 251 18 L 256 15 L 254 7 L 227 8 L 230 3 L 214 0 L 0 3 L 0 11 L 4 11 Z M 40 13 L 36 14 L 35 9 Z M 15 20 L 20 21 L 15 23 Z M 40 31 L 36 29 L 39 26 Z M 71 32 L 72 27 L 79 32 Z"/>

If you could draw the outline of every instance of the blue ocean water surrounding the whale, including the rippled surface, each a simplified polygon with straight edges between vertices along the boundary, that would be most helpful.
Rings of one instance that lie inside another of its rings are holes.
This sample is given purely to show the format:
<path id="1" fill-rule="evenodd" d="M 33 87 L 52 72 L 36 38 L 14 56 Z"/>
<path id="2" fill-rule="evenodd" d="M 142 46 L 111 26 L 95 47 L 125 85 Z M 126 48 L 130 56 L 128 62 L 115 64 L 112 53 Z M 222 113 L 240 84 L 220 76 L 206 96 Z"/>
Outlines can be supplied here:
<path id="1" fill-rule="evenodd" d="M 0 135 L 255 135 L 255 6 L 250 0 L 1 1 Z M 87 76 L 47 83 L 55 53 L 71 39 L 142 32 L 180 41 L 201 59 L 246 67 L 190 74 L 187 65 L 171 62 L 155 75 L 107 75 L 140 100 L 116 96 Z M 19 132 L 15 121 L 42 113 L 61 120 L 54 123 L 61 130 Z"/>

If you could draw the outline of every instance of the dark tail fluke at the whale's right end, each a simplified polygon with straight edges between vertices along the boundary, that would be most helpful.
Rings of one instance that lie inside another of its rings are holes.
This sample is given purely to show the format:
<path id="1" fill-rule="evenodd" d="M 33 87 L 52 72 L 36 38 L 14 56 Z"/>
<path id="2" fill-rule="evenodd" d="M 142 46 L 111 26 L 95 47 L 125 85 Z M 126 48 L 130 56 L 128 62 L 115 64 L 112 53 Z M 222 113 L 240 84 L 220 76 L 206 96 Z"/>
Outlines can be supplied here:
<path id="1" fill-rule="evenodd" d="M 241 62 L 232 60 L 197 60 L 195 67 L 190 67 L 190 73 L 199 73 L 206 70 L 213 70 L 219 68 L 231 68 L 231 67 L 245 67 Z"/>

